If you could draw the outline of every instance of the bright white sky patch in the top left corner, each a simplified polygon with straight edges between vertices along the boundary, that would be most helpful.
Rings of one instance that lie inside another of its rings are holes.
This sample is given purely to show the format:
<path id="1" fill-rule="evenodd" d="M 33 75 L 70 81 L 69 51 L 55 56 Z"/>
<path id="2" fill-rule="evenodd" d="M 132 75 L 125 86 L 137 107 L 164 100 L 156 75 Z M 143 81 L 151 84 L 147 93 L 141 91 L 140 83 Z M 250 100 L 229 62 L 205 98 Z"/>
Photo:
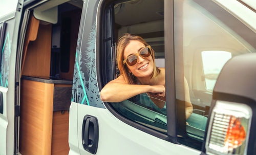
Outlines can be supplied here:
<path id="1" fill-rule="evenodd" d="M 16 10 L 18 0 L 0 0 L 0 18 Z"/>

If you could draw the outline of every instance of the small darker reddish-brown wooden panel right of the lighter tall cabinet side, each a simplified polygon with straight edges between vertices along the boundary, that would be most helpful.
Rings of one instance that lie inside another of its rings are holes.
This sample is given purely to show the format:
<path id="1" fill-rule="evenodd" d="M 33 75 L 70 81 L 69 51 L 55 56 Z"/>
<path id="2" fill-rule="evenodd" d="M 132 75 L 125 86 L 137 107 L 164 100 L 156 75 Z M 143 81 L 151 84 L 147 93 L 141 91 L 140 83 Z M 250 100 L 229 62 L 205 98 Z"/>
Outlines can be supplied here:
<path id="1" fill-rule="evenodd" d="M 69 112 L 53 112 L 52 154 L 69 153 Z"/>

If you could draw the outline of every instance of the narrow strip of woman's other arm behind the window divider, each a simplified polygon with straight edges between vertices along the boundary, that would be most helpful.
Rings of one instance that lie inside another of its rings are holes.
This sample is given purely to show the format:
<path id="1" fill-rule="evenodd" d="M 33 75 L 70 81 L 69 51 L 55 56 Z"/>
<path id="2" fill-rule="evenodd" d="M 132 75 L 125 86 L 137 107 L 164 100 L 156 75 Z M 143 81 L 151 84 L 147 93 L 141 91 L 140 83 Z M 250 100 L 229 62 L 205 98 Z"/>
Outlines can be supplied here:
<path id="1" fill-rule="evenodd" d="M 190 101 L 189 87 L 188 87 L 187 79 L 185 77 L 184 77 L 184 87 L 185 87 L 185 113 L 186 113 L 186 119 L 188 119 L 193 112 L 193 106 Z"/>

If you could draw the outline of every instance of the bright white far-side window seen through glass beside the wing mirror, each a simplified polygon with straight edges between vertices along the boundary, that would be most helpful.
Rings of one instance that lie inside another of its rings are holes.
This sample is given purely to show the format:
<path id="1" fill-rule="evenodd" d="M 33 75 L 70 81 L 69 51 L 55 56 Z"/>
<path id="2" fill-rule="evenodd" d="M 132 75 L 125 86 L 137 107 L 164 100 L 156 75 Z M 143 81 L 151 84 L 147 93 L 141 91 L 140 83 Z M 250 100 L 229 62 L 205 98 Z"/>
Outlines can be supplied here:
<path id="1" fill-rule="evenodd" d="M 212 92 L 223 65 L 232 56 L 230 52 L 226 51 L 203 51 L 201 54 L 206 90 Z"/>

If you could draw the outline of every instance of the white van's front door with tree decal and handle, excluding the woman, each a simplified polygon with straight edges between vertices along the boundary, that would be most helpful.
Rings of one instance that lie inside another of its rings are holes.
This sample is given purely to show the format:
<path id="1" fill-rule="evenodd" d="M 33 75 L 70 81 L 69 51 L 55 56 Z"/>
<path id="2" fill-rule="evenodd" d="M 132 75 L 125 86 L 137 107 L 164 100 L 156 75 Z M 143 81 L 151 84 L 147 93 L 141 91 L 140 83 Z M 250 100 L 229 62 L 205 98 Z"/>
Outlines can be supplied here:
<path id="1" fill-rule="evenodd" d="M 131 10 L 133 8 L 136 10 Z M 141 33 L 156 49 L 158 59 L 169 53 L 166 60 L 173 62 L 173 51 L 169 47 L 172 43 L 167 47 L 164 43 L 165 33 L 172 32 L 165 31 L 165 28 L 172 30 L 172 22 L 166 24 L 169 27 L 164 26 L 166 21 L 172 21 L 172 9 L 164 12 L 164 8 L 172 8 L 171 1 L 84 2 L 73 80 L 76 85 L 73 92 L 77 95 L 70 107 L 70 154 L 200 153 L 177 142 L 175 97 L 171 93 L 174 88 L 172 67 L 165 74 L 168 104 L 162 109 L 152 110 L 146 106 L 147 103 L 137 103 L 132 99 L 120 103 L 103 103 L 100 100 L 101 88 L 118 74 L 115 44 L 119 35 L 129 30 Z M 166 19 L 163 14 L 167 14 Z M 172 34 L 167 36 L 166 41 L 173 42 Z M 148 98 L 146 96 L 145 100 Z M 77 117 L 74 117 L 76 110 Z M 76 125 L 77 130 L 72 129 Z M 73 146 L 77 142 L 79 150 Z"/>

